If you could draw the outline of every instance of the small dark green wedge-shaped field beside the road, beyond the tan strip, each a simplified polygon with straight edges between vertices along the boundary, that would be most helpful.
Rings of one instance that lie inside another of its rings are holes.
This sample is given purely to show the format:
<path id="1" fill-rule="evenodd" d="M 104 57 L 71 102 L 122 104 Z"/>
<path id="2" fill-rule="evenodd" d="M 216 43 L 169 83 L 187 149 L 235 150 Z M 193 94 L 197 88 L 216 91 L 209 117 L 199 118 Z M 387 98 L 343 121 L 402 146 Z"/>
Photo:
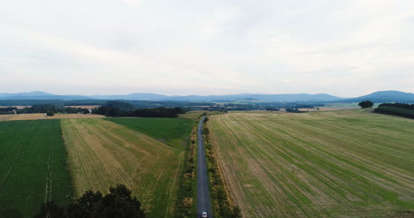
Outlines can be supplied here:
<path id="1" fill-rule="evenodd" d="M 176 118 L 106 118 L 115 124 L 124 125 L 130 129 L 149 135 L 155 139 L 172 145 L 173 147 L 184 148 L 191 129 L 195 124 L 188 119 Z"/>

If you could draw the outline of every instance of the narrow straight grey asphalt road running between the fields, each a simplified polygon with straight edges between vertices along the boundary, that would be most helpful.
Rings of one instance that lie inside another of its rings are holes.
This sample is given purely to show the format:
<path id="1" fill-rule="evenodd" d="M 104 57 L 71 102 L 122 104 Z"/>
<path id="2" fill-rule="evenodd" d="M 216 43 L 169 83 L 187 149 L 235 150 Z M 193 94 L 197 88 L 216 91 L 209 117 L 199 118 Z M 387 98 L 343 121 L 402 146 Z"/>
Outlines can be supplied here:
<path id="1" fill-rule="evenodd" d="M 204 118 L 198 124 L 197 141 L 198 141 L 198 156 L 197 156 L 197 217 L 201 217 L 203 212 L 207 212 L 209 218 L 211 213 L 211 200 L 209 193 L 209 180 L 207 177 L 207 166 L 205 162 L 205 149 L 203 140 L 203 122 Z"/>

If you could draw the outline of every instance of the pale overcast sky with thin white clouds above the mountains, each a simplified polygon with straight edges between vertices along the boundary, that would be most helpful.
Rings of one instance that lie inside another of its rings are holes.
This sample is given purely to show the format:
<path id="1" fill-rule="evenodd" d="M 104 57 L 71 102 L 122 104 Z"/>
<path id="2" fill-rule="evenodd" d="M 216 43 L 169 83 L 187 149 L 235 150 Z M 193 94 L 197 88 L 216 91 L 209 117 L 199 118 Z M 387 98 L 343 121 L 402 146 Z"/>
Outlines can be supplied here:
<path id="1" fill-rule="evenodd" d="M 0 3 L 0 93 L 414 93 L 412 0 Z"/>

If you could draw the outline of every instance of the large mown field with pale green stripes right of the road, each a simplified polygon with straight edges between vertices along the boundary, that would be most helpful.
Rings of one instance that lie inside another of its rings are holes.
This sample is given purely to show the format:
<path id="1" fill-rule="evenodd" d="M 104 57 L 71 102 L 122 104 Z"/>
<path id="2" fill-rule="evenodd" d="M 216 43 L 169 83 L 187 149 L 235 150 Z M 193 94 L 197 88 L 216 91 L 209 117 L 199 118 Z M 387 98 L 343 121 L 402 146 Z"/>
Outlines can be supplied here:
<path id="1" fill-rule="evenodd" d="M 353 109 L 207 123 L 244 217 L 413 217 L 414 120 Z"/>

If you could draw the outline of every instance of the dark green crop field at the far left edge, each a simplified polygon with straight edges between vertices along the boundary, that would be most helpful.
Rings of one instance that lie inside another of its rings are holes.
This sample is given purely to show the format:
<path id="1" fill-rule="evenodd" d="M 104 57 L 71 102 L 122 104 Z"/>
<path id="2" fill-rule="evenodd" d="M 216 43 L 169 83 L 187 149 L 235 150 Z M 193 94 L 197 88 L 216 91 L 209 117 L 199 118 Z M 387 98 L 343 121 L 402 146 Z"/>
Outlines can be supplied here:
<path id="1" fill-rule="evenodd" d="M 73 189 L 59 120 L 0 122 L 0 217 L 33 217 Z"/>

